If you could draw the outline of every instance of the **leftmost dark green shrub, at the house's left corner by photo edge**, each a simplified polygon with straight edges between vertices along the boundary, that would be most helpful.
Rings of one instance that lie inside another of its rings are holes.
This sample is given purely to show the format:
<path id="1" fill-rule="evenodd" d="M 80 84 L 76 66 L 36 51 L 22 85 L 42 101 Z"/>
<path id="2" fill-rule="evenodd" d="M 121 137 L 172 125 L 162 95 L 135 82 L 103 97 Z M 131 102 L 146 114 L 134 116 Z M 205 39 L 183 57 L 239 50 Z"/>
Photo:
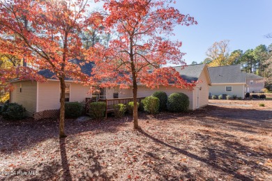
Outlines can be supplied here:
<path id="1" fill-rule="evenodd" d="M 2 107 L 2 116 L 7 120 L 21 120 L 25 117 L 26 109 L 17 103 L 6 103 Z"/>

